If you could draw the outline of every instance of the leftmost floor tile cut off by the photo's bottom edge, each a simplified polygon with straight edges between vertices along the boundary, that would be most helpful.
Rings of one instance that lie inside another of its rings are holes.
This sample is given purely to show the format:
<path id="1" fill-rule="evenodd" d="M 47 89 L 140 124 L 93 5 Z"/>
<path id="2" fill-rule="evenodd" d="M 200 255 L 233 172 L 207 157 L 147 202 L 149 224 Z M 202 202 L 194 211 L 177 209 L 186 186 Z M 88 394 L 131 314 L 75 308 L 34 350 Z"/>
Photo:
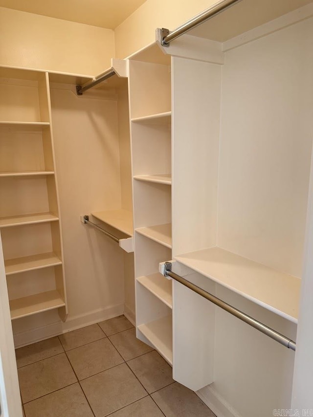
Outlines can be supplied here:
<path id="1" fill-rule="evenodd" d="M 26 417 L 93 417 L 78 383 L 24 405 Z"/>

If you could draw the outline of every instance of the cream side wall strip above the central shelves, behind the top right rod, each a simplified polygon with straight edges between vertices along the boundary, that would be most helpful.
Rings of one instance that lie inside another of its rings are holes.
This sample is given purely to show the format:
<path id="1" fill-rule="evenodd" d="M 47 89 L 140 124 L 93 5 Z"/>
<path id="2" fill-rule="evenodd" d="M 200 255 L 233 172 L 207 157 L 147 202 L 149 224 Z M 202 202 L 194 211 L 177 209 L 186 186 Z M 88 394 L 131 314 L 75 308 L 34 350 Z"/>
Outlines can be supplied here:
<path id="1" fill-rule="evenodd" d="M 115 29 L 116 58 L 126 58 L 154 42 L 157 27 L 173 30 L 214 3 L 216 0 L 147 0 Z"/>

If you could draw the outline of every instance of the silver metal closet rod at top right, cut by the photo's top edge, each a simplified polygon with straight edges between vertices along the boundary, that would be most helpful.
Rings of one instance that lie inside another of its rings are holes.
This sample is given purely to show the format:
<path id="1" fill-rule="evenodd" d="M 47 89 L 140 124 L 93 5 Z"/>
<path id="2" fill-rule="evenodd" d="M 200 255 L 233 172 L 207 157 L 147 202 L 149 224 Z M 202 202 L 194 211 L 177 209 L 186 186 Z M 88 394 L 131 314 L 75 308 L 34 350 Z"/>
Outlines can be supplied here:
<path id="1" fill-rule="evenodd" d="M 174 41 L 174 39 L 179 38 L 179 36 L 183 35 L 184 33 L 188 32 L 191 29 L 194 29 L 199 24 L 213 18 L 214 16 L 228 9 L 228 7 L 231 7 L 234 4 L 239 3 L 239 1 L 241 0 L 219 1 L 218 3 L 213 4 L 208 9 L 199 13 L 199 15 L 183 23 L 182 25 L 177 27 L 175 30 L 173 30 L 173 32 L 171 33 L 169 33 L 168 29 L 162 29 L 163 33 L 169 33 L 169 35 L 164 36 L 164 38 L 162 39 L 162 45 L 169 46 L 170 42 Z"/>

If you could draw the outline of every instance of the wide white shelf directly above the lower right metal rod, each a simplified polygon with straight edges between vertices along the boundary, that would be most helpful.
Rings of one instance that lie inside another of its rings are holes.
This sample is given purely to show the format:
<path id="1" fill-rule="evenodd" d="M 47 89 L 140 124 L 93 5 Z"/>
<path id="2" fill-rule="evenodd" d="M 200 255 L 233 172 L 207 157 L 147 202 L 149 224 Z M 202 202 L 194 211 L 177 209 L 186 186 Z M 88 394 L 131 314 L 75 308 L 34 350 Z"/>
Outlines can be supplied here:
<path id="1" fill-rule="evenodd" d="M 213 247 L 174 259 L 248 300 L 297 323 L 301 280 Z"/>

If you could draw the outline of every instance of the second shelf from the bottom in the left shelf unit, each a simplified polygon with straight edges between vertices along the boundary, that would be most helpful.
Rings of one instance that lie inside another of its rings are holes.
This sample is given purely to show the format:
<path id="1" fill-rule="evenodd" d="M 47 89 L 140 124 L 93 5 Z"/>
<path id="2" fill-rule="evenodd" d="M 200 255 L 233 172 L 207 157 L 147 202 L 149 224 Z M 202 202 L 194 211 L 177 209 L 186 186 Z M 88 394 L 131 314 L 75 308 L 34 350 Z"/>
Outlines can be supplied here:
<path id="1" fill-rule="evenodd" d="M 8 259 L 4 261 L 6 275 L 18 274 L 19 272 L 32 271 L 61 265 L 62 261 L 53 252 L 39 255 L 24 256 L 22 258 Z"/>

